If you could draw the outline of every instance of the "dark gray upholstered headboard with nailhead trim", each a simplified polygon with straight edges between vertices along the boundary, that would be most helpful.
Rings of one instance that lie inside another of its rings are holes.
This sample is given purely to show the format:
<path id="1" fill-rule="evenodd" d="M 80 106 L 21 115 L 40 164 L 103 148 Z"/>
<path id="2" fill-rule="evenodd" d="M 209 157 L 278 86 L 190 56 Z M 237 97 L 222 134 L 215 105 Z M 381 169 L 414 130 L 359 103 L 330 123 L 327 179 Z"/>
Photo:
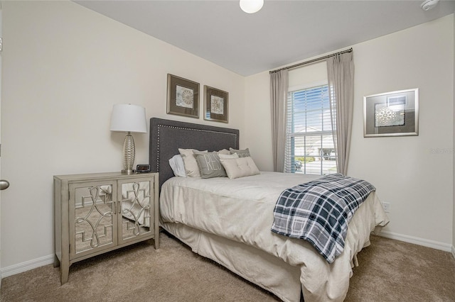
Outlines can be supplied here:
<path id="1" fill-rule="evenodd" d="M 239 148 L 239 130 L 199 125 L 161 118 L 150 119 L 149 162 L 152 172 L 159 172 L 159 187 L 173 177 L 169 159 L 178 148 L 219 151 Z"/>

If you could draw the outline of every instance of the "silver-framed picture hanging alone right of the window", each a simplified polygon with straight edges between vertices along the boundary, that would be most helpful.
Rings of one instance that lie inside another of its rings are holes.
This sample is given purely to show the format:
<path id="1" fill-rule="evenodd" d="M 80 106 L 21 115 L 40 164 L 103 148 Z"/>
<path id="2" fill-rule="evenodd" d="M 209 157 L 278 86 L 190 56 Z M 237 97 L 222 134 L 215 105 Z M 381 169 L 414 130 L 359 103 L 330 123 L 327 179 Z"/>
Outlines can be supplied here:
<path id="1" fill-rule="evenodd" d="M 363 97 L 363 136 L 419 135 L 419 89 Z"/>

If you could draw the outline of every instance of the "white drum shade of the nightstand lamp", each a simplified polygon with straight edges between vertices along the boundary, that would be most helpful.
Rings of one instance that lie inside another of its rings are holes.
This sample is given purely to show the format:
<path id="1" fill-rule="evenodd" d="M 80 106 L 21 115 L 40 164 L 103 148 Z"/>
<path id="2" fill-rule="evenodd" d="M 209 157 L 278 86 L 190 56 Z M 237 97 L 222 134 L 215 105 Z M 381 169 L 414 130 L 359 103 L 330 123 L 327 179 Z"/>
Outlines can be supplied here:
<path id="1" fill-rule="evenodd" d="M 112 108 L 111 131 L 146 133 L 145 108 L 132 104 L 116 104 Z"/>

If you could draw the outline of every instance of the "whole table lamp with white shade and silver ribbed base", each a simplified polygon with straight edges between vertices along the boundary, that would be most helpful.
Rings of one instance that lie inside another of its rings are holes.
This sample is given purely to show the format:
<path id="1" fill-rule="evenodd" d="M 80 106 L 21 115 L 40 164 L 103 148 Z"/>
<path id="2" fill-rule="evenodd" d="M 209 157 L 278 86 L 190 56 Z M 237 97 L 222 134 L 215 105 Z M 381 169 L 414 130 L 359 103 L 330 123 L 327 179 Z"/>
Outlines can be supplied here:
<path id="1" fill-rule="evenodd" d="M 145 108 L 132 104 L 116 104 L 112 108 L 111 131 L 126 132 L 123 143 L 123 174 L 133 174 L 134 156 L 134 139 L 132 132 L 146 133 L 146 116 Z"/>

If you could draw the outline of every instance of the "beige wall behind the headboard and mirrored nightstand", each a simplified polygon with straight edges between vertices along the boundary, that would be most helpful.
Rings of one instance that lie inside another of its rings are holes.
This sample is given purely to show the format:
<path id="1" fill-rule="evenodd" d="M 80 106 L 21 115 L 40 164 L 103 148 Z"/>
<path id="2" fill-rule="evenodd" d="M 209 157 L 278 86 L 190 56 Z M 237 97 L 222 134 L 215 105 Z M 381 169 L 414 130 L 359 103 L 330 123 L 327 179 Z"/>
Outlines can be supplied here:
<path id="1" fill-rule="evenodd" d="M 1 177 L 11 182 L 1 191 L 3 270 L 52 259 L 53 175 L 122 169 L 113 104 L 242 133 L 244 77 L 70 1 L 2 6 Z M 168 73 L 200 83 L 201 118 L 166 114 Z M 229 92 L 228 124 L 203 121 L 204 84 Z M 134 140 L 136 163 L 147 163 L 148 134 Z"/>

